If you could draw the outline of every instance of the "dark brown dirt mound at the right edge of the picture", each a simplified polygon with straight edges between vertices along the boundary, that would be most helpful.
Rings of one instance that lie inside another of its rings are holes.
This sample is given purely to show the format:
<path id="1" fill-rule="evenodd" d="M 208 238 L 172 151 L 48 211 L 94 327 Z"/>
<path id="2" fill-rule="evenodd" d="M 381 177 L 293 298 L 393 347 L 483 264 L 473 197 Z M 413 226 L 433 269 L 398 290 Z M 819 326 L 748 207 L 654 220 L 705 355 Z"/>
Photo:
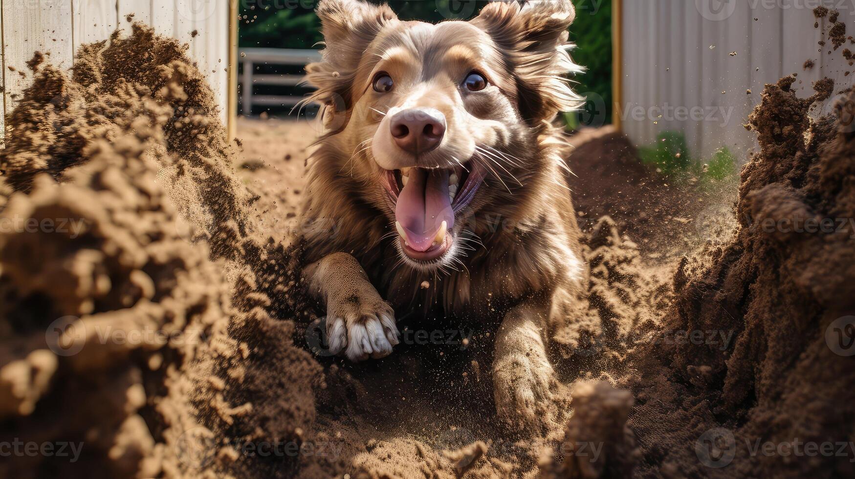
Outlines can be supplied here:
<path id="1" fill-rule="evenodd" d="M 749 118 L 762 150 L 742 170 L 736 238 L 675 275 L 663 329 L 681 340 L 633 358 L 643 475 L 852 471 L 855 94 L 813 121 L 830 82 L 799 99 L 793 80 L 766 86 Z"/>

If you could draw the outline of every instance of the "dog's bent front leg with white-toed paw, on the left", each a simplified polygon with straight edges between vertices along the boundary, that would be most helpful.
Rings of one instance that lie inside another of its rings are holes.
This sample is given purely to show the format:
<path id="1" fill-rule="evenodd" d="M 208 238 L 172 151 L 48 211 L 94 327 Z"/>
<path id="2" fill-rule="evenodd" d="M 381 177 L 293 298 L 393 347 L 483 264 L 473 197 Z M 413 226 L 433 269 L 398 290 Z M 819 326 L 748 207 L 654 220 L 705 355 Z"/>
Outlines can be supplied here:
<path id="1" fill-rule="evenodd" d="M 392 306 L 380 298 L 355 257 L 333 253 L 303 270 L 309 293 L 327 305 L 330 352 L 351 361 L 383 358 L 398 344 Z"/>

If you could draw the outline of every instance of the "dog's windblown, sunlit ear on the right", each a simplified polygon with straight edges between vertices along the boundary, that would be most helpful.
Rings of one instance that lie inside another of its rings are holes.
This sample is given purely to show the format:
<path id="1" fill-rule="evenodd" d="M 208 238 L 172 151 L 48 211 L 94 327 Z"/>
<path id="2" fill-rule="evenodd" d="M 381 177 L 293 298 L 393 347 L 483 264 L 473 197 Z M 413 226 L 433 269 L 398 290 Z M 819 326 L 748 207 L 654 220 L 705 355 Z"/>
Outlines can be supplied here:
<path id="1" fill-rule="evenodd" d="M 567 53 L 574 17 L 570 0 L 531 0 L 522 7 L 516 1 L 489 3 L 472 20 L 503 50 L 516 76 L 520 112 L 532 124 L 582 103 L 563 77 L 582 71 Z"/>

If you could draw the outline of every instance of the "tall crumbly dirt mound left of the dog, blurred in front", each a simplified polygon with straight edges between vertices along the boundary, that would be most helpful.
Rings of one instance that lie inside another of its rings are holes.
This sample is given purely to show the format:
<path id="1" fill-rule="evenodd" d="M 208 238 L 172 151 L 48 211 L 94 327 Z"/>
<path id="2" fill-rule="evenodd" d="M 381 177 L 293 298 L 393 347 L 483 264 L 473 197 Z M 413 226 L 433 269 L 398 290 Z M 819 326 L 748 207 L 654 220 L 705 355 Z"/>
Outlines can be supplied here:
<path id="1" fill-rule="evenodd" d="M 317 366 L 269 314 L 292 256 L 252 234 L 186 46 L 134 25 L 73 74 L 42 59 L 0 153 L 0 438 L 65 446 L 2 475 L 242 476 L 233 443 L 315 414 Z"/>

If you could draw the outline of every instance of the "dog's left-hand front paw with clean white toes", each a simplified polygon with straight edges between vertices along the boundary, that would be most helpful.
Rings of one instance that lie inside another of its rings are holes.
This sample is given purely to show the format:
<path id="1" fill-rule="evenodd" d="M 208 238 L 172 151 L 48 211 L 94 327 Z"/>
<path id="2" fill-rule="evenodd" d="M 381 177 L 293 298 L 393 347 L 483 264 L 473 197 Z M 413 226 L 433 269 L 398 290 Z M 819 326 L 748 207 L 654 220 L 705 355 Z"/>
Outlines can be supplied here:
<path id="1" fill-rule="evenodd" d="M 395 311 L 370 283 L 357 290 L 327 299 L 330 352 L 344 353 L 351 361 L 384 358 L 399 342 Z"/>

